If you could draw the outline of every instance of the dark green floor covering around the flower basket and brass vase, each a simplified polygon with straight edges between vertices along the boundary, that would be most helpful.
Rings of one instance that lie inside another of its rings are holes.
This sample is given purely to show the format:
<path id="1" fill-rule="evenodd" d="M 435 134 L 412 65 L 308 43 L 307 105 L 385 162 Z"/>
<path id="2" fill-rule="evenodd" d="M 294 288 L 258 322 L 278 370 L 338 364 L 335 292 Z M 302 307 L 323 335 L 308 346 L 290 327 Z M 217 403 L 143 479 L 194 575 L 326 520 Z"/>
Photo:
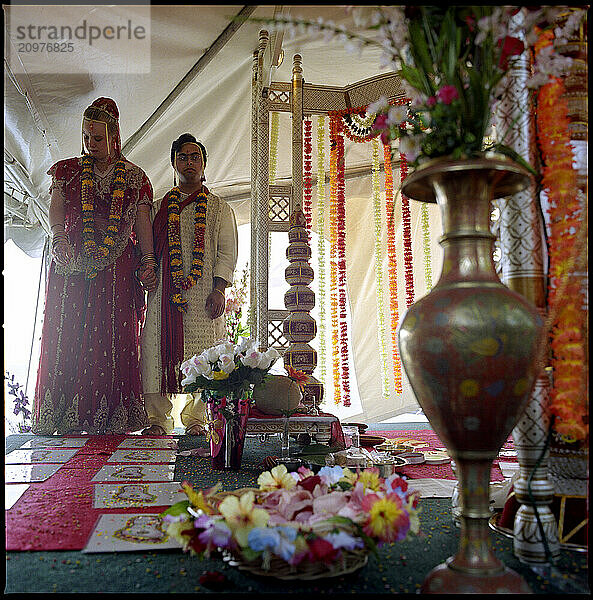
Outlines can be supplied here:
<path id="1" fill-rule="evenodd" d="M 398 430 L 401 424 L 398 424 Z M 393 428 L 395 429 L 395 427 Z M 6 451 L 20 447 L 31 436 L 10 436 Z M 203 437 L 181 436 L 180 449 L 205 445 Z M 243 468 L 239 473 L 212 472 L 207 458 L 177 458 L 176 480 L 210 486 L 221 480 L 225 489 L 255 485 L 265 456 L 278 455 L 276 437 L 262 442 L 246 441 Z M 358 573 L 326 580 L 279 581 L 251 576 L 222 560 L 200 561 L 181 551 L 121 552 L 8 552 L 5 592 L 12 593 L 220 593 L 276 594 L 301 593 L 313 596 L 356 593 L 374 598 L 393 593 L 416 593 L 427 573 L 457 551 L 459 530 L 451 519 L 451 500 L 427 498 L 420 501 L 421 534 L 408 542 L 386 545 L 379 556 L 370 556 Z M 513 555 L 512 540 L 490 532 L 496 555 L 519 572 L 534 593 L 589 593 L 587 556 L 563 551 L 554 573 L 537 574 Z M 224 575 L 216 588 L 200 584 L 207 571 Z"/>

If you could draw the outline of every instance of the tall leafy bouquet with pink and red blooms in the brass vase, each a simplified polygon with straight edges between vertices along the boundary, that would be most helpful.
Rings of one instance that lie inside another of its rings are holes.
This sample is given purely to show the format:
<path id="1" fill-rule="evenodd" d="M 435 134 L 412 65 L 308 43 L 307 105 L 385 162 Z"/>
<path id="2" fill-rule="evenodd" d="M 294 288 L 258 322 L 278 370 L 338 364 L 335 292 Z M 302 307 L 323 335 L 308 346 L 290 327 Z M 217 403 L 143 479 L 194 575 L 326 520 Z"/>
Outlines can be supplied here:
<path id="1" fill-rule="evenodd" d="M 353 30 L 322 19 L 261 20 L 289 35 L 306 32 L 327 42 L 336 39 L 352 52 L 380 47 L 380 66 L 401 76 L 410 103 L 390 105 L 386 98 L 379 98 L 366 112 L 376 115 L 373 127 L 385 144 L 399 140 L 399 151 L 411 166 L 441 156 L 458 159 L 494 150 L 534 172 L 504 144 L 508 132 L 493 135 L 493 106 L 514 63 L 565 8 L 348 6 Z M 521 20 L 514 21 L 518 13 Z M 555 32 L 555 41 L 562 43 L 585 17 L 583 9 L 572 14 Z M 538 55 L 527 85 L 537 90 L 571 63 L 571 58 L 550 47 Z"/>

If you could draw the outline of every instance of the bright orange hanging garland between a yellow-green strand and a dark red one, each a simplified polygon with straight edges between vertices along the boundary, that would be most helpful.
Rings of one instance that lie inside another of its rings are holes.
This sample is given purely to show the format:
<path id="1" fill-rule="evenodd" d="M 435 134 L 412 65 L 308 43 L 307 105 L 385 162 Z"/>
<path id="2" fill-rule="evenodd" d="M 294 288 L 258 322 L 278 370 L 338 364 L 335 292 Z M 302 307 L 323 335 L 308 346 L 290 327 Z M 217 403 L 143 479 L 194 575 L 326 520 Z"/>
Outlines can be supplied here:
<path id="1" fill-rule="evenodd" d="M 393 351 L 393 385 L 402 393 L 402 371 L 397 346 L 397 325 L 399 307 L 397 301 L 397 258 L 395 254 L 395 205 L 393 202 L 393 169 L 391 167 L 391 146 L 383 146 L 385 165 L 385 213 L 387 214 L 387 257 L 389 264 L 389 308 L 391 312 L 391 348 Z"/>

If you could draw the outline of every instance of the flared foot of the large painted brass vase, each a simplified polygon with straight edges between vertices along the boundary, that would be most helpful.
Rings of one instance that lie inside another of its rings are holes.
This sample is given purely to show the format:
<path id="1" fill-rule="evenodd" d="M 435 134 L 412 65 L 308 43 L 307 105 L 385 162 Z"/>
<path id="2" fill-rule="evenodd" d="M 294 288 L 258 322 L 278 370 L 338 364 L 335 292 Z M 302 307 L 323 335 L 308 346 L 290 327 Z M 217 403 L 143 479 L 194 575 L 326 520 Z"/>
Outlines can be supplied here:
<path id="1" fill-rule="evenodd" d="M 472 575 L 451 569 L 446 563 L 426 577 L 421 594 L 531 594 L 531 588 L 515 571 L 506 567 L 496 575 Z"/>

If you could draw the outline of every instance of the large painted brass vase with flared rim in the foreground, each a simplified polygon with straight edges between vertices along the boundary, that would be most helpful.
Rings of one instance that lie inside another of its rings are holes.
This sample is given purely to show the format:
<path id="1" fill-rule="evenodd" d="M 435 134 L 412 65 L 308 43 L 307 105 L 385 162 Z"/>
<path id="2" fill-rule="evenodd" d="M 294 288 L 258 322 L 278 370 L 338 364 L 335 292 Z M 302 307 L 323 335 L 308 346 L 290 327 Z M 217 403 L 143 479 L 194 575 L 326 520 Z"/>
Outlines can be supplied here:
<path id="1" fill-rule="evenodd" d="M 434 568 L 423 593 L 530 593 L 489 540 L 492 461 L 529 400 L 543 322 L 504 286 L 493 260 L 491 200 L 521 191 L 529 174 L 505 157 L 437 159 L 416 169 L 402 193 L 441 209 L 443 266 L 432 291 L 399 328 L 402 363 L 459 480 L 458 552 Z"/>

